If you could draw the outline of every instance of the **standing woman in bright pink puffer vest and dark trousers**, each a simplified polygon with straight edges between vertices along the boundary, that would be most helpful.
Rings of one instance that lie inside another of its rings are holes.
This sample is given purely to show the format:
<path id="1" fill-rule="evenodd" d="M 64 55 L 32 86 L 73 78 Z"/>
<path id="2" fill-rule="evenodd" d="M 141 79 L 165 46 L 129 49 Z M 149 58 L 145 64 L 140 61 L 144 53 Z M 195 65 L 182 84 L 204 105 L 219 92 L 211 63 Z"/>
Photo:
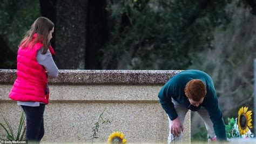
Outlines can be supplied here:
<path id="1" fill-rule="evenodd" d="M 19 44 L 17 79 L 9 97 L 21 105 L 26 115 L 26 140 L 40 142 L 44 136 L 44 108 L 49 102 L 48 77 L 57 77 L 50 40 L 54 24 L 39 17 Z"/>

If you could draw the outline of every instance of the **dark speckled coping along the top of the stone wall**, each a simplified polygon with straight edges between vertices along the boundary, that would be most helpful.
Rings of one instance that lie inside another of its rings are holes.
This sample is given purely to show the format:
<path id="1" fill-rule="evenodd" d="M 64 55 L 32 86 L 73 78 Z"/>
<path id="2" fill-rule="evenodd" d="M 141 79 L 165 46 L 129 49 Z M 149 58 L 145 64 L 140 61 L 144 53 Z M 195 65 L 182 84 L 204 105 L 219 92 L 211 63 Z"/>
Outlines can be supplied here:
<path id="1" fill-rule="evenodd" d="M 164 84 L 181 70 L 59 70 L 50 83 L 63 84 Z M 16 70 L 0 69 L 0 83 L 14 83 Z"/>

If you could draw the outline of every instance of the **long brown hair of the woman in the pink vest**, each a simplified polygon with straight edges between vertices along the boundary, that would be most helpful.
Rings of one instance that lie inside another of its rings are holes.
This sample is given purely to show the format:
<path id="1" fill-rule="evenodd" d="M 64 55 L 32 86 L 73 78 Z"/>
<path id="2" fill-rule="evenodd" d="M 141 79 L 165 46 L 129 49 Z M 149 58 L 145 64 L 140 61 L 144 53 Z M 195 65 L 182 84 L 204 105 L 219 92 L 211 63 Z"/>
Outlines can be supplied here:
<path id="1" fill-rule="evenodd" d="M 32 24 L 30 30 L 26 32 L 23 40 L 19 43 L 19 47 L 26 48 L 29 46 L 30 42 L 32 42 L 32 45 L 30 47 L 32 48 L 37 42 L 40 42 L 43 44 L 42 54 L 45 54 L 50 46 L 48 35 L 53 27 L 54 24 L 50 19 L 45 17 L 37 18 L 35 22 Z M 35 40 L 33 40 L 33 35 L 35 33 L 37 34 L 37 36 Z"/>

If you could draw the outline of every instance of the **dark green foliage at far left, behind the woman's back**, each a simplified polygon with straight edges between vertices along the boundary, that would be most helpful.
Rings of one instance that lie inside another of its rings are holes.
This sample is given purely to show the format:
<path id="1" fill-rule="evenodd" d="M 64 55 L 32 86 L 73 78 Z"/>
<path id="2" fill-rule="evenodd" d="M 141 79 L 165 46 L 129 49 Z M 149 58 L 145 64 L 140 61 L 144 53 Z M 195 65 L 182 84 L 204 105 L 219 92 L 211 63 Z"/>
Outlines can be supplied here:
<path id="1" fill-rule="evenodd" d="M 16 69 L 19 42 L 39 16 L 37 1 L 3 0 L 0 5 L 0 68 Z"/>

